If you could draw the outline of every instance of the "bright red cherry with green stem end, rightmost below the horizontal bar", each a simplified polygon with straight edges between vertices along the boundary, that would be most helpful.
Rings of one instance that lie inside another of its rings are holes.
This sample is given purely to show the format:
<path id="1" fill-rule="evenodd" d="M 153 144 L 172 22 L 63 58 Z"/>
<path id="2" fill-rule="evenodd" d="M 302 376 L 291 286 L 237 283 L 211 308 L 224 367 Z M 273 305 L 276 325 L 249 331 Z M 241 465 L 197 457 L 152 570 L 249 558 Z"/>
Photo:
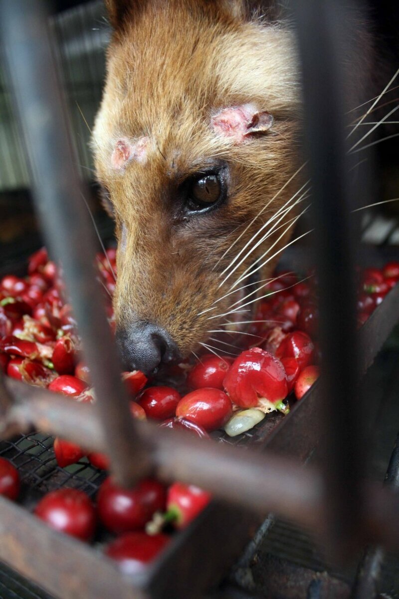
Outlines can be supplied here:
<path id="1" fill-rule="evenodd" d="M 211 494 L 194 485 L 173 483 L 167 489 L 166 519 L 176 528 L 185 528 L 211 501 Z"/>

